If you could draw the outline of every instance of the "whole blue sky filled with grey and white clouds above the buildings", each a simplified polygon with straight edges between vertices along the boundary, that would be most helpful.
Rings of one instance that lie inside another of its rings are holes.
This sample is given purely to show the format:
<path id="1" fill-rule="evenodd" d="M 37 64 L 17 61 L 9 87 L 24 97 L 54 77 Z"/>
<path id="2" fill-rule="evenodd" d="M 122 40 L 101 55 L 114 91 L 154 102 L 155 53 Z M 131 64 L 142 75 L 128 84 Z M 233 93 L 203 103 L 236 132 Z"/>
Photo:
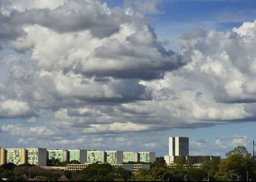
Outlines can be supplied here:
<path id="1" fill-rule="evenodd" d="M 0 146 L 252 153 L 253 0 L 0 0 Z"/>

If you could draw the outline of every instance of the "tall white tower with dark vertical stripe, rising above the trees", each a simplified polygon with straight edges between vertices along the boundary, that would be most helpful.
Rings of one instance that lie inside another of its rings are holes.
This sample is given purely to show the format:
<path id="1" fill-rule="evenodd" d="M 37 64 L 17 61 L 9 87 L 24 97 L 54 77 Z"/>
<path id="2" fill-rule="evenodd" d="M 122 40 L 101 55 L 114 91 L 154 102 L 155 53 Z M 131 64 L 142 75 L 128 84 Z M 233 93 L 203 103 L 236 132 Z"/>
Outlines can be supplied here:
<path id="1" fill-rule="evenodd" d="M 169 137 L 169 155 L 164 156 L 166 163 L 173 163 L 176 156 L 188 155 L 188 146 L 188 137 Z"/>

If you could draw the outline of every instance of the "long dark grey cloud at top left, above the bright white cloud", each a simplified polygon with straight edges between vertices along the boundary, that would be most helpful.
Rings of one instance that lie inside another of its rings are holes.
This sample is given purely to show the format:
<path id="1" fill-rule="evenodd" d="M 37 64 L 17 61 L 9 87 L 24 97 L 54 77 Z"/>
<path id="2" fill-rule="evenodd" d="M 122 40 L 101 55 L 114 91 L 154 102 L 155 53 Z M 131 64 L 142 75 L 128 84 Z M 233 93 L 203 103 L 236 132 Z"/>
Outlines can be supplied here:
<path id="1" fill-rule="evenodd" d="M 74 7 L 73 5 L 77 6 Z M 127 19 L 128 20 L 128 19 Z M 1 37 L 15 38 L 23 34 L 24 24 L 41 25 L 60 33 L 88 29 L 99 38 L 119 31 L 121 22 L 118 14 L 109 14 L 107 9 L 94 3 L 70 1 L 51 9 L 31 9 L 24 12 L 12 10 L 10 16 L 1 15 Z"/>

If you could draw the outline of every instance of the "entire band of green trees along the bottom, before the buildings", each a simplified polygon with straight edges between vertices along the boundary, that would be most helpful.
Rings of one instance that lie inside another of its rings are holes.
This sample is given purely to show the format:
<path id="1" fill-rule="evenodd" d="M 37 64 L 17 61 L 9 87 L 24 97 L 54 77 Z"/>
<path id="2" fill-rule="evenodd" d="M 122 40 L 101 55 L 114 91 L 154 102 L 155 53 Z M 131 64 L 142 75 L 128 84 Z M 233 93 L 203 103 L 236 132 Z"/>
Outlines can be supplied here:
<path id="1" fill-rule="evenodd" d="M 127 171 L 123 168 L 113 168 L 110 164 L 90 164 L 81 171 L 46 170 L 39 166 L 22 164 L 15 166 L 13 163 L 1 165 L 0 178 L 8 178 L 8 181 L 26 181 L 30 178 L 49 181 L 239 181 L 256 179 L 256 159 L 243 146 L 238 146 L 226 154 L 227 158 L 210 160 L 202 159 L 200 169 L 192 168 L 193 161 L 178 157 L 175 160 L 174 169 L 167 167 L 164 157 L 156 157 L 156 161 L 150 164 L 150 169 L 139 171 Z M 49 160 L 53 166 L 65 165 L 66 162 L 58 163 Z M 70 163 L 70 162 L 69 162 Z M 78 163 L 78 161 L 73 161 Z M 130 162 L 132 163 L 132 162 Z M 186 164 L 188 169 L 184 169 Z M 64 176 L 63 176 L 64 175 Z M 1 179 L 0 179 L 1 180 Z"/>

